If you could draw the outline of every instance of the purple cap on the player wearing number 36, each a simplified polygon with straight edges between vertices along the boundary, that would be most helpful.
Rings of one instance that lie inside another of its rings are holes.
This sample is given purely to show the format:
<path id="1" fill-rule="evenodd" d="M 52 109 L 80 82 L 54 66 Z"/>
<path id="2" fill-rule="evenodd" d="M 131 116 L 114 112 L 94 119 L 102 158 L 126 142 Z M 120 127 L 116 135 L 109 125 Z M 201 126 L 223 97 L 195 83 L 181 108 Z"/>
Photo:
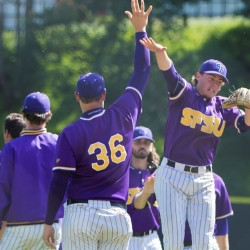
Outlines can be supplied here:
<path id="1" fill-rule="evenodd" d="M 95 98 L 105 91 L 104 79 L 96 73 L 81 75 L 77 81 L 76 92 L 83 98 Z"/>

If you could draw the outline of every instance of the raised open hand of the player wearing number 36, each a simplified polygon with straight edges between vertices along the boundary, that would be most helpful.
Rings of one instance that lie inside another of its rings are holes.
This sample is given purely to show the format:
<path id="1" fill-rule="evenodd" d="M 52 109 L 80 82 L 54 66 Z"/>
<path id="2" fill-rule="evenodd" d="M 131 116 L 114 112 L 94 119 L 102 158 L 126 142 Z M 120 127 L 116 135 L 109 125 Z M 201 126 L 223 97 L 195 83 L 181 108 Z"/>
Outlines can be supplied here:
<path id="1" fill-rule="evenodd" d="M 131 9 L 132 13 L 130 11 L 125 11 L 125 14 L 134 26 L 135 32 L 145 32 L 148 23 L 148 16 L 153 7 L 150 5 L 148 10 L 145 12 L 144 0 L 141 0 L 141 8 L 138 0 L 131 0 Z"/>

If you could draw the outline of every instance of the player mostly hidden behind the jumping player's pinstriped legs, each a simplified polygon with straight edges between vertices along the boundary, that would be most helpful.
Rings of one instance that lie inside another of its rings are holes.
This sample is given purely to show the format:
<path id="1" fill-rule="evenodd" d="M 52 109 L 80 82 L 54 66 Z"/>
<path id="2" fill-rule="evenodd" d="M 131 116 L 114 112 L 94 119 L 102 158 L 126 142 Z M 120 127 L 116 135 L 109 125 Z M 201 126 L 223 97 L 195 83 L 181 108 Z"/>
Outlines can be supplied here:
<path id="1" fill-rule="evenodd" d="M 214 230 L 214 249 L 228 250 L 228 217 L 233 215 L 233 209 L 222 178 L 213 173 L 216 194 L 216 220 Z M 217 246 L 218 245 L 218 246 Z M 192 250 L 192 237 L 188 222 L 186 221 L 184 249 Z"/>

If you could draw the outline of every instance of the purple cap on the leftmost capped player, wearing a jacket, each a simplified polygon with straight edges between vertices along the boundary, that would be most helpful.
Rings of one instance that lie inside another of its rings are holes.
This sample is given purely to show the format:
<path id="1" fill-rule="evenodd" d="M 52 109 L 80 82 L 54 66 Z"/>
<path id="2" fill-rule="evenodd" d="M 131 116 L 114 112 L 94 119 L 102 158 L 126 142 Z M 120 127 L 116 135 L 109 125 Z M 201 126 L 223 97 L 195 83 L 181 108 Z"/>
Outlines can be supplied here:
<path id="1" fill-rule="evenodd" d="M 40 92 L 30 93 L 24 100 L 23 111 L 37 114 L 44 114 L 49 112 L 49 97 Z"/>

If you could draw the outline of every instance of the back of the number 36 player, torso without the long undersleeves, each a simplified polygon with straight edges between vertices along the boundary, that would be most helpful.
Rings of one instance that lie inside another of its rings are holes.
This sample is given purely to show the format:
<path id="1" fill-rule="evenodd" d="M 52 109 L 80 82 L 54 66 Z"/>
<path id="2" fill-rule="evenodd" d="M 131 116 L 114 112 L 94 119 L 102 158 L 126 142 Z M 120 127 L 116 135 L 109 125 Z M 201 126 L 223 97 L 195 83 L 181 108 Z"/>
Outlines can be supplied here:
<path id="1" fill-rule="evenodd" d="M 125 105 L 128 99 L 131 101 Z M 131 143 L 140 109 L 139 95 L 126 90 L 106 110 L 85 112 L 63 130 L 59 141 L 67 138 L 73 157 L 64 156 L 60 147 L 61 164 L 56 168 L 72 170 L 68 198 L 126 202 Z"/>

